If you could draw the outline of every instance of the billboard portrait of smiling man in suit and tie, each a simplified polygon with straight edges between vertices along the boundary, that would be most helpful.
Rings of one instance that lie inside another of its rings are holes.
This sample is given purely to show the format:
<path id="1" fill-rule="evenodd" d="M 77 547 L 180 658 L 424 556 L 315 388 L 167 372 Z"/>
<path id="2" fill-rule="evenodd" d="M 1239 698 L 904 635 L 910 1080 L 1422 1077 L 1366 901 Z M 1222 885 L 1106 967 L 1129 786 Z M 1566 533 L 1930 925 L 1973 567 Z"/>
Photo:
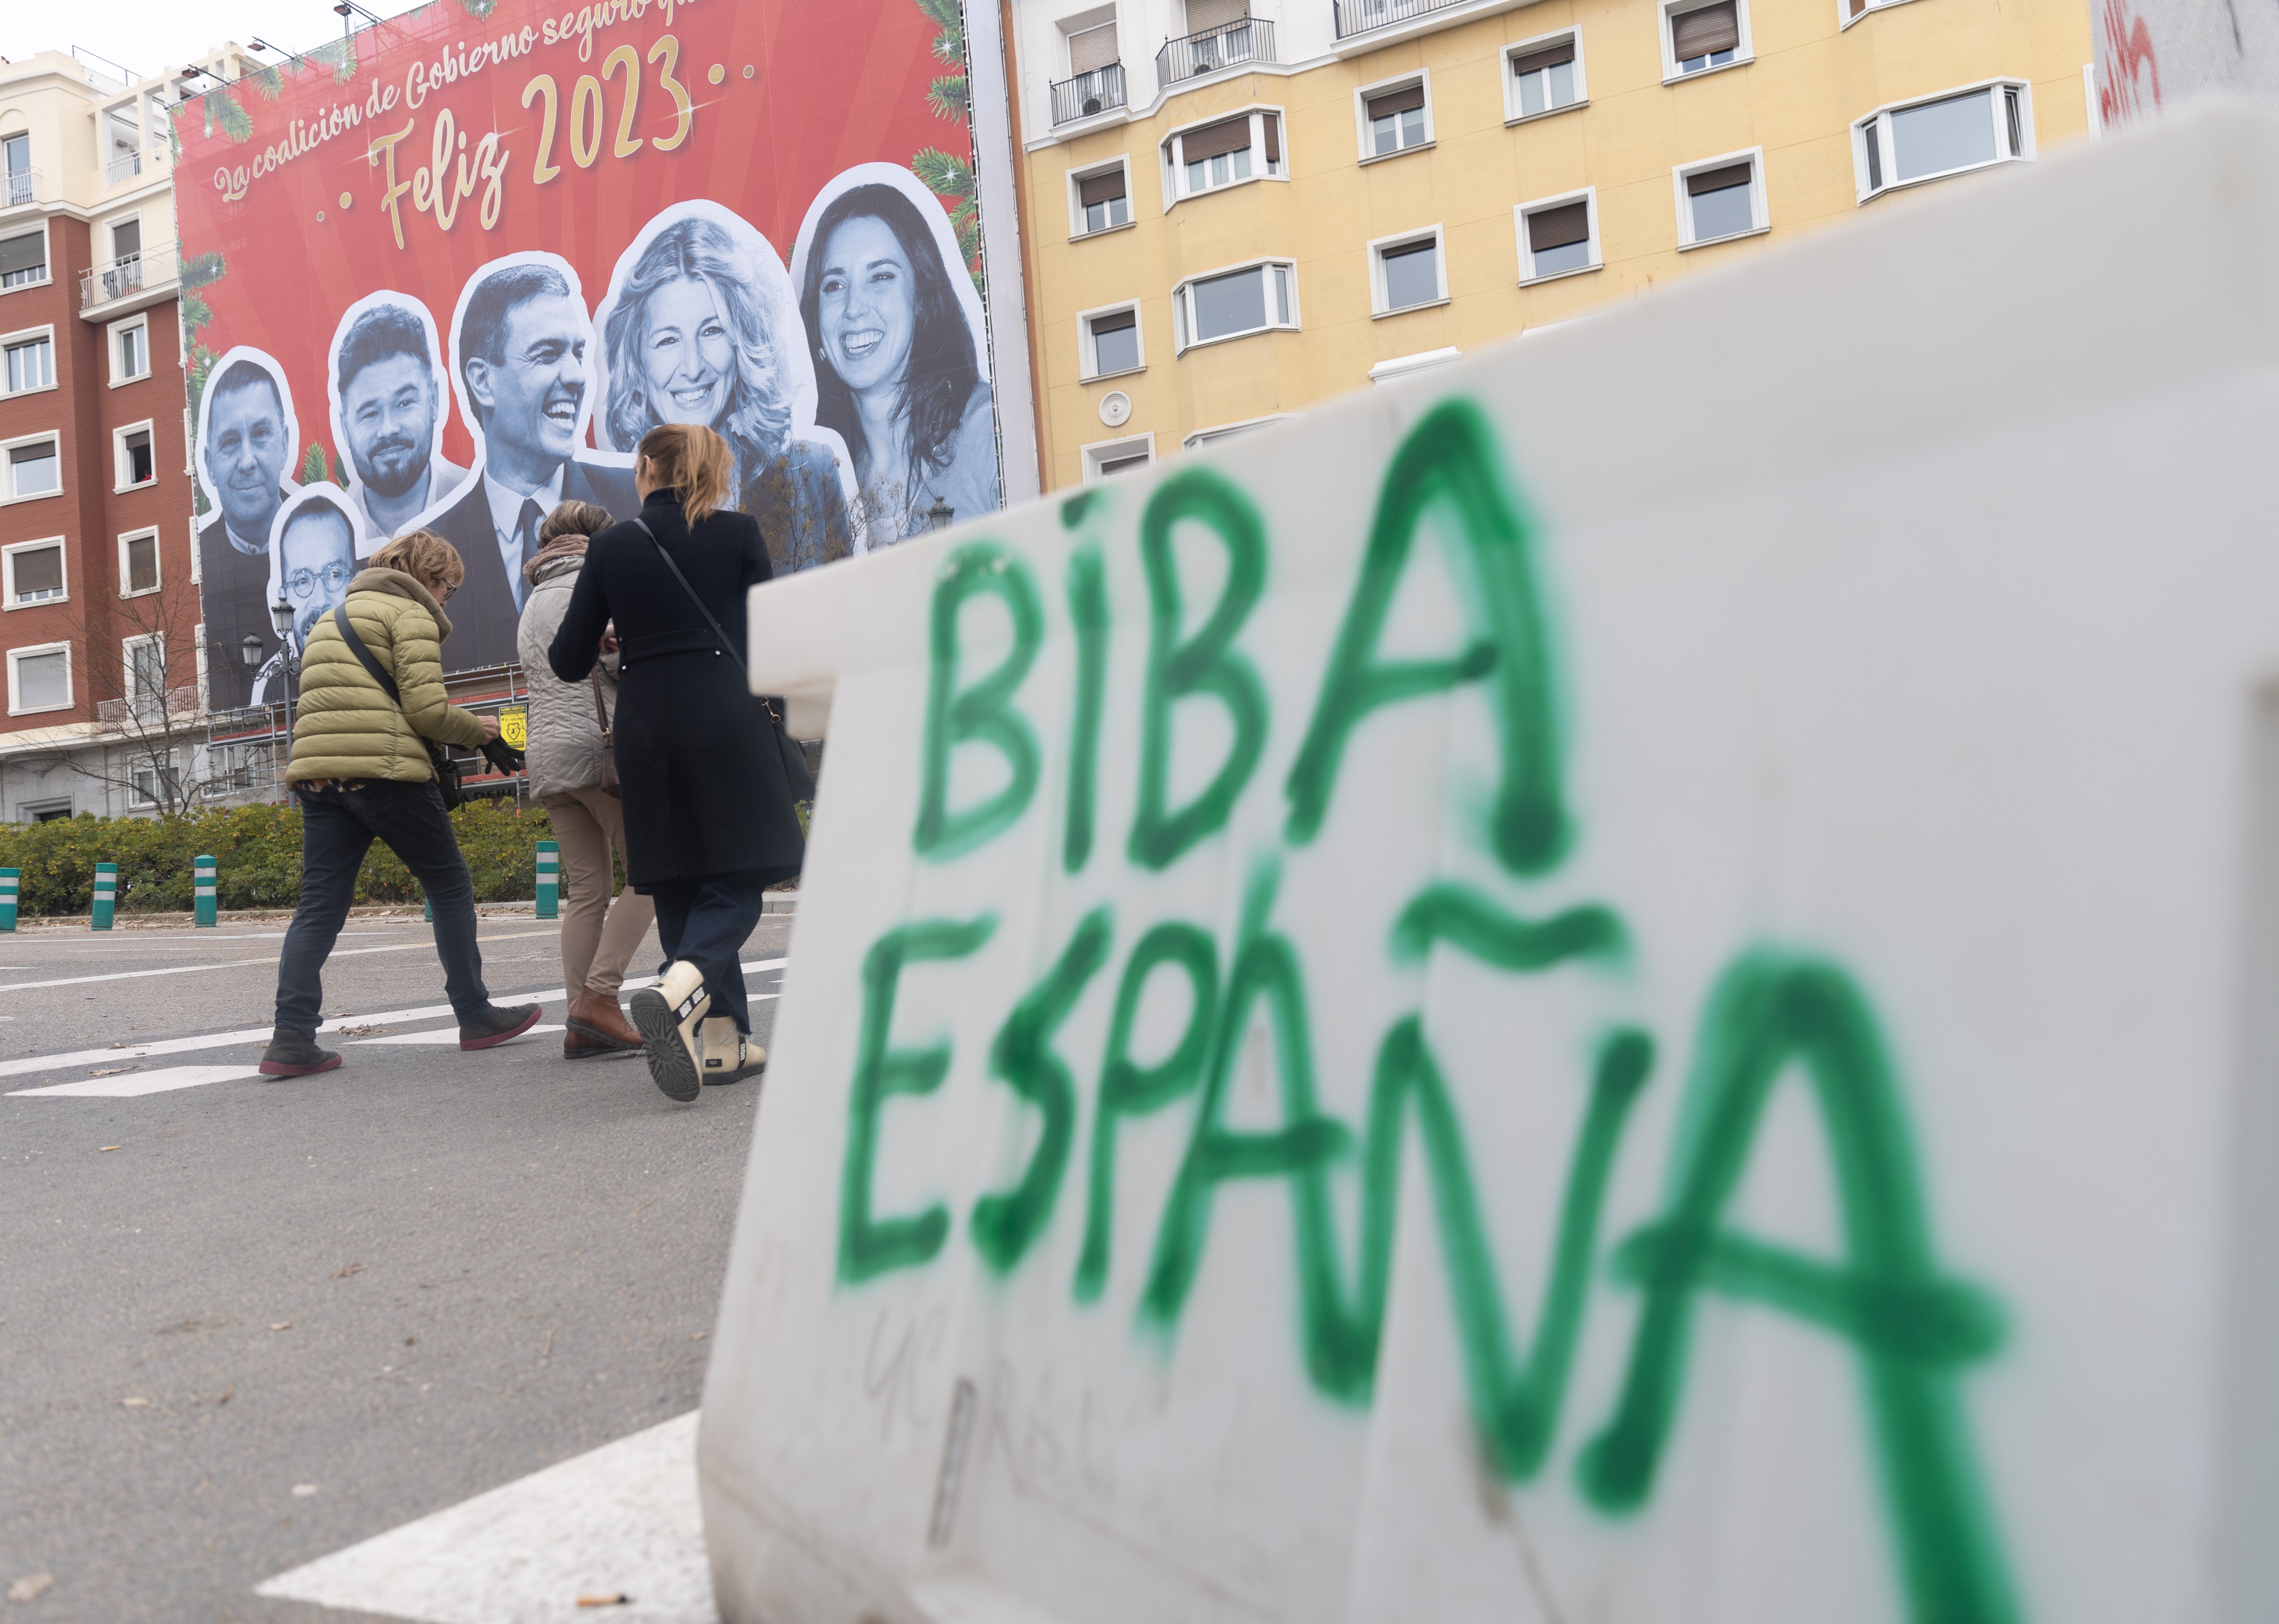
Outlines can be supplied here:
<path id="1" fill-rule="evenodd" d="M 515 658 L 515 626 L 538 526 L 563 501 L 640 512 L 634 471 L 579 456 L 593 405 L 593 321 L 577 273 L 549 253 L 483 266 L 458 301 L 451 360 L 483 467 L 428 528 L 458 549 L 449 670 Z"/>

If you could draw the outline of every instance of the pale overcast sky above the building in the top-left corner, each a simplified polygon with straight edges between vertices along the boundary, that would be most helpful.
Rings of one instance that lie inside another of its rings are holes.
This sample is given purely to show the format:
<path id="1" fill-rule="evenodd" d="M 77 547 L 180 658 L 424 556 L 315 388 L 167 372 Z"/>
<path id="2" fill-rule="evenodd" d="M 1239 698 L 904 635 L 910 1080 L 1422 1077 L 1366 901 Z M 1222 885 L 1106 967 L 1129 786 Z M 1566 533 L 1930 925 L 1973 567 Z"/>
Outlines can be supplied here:
<path id="1" fill-rule="evenodd" d="M 358 0 L 374 16 L 399 16 L 415 2 Z M 11 61 L 80 46 L 137 75 L 150 75 L 228 39 L 239 46 L 264 39 L 280 50 L 310 50 L 340 39 L 340 16 L 330 0 L 0 0 L 0 57 Z"/>

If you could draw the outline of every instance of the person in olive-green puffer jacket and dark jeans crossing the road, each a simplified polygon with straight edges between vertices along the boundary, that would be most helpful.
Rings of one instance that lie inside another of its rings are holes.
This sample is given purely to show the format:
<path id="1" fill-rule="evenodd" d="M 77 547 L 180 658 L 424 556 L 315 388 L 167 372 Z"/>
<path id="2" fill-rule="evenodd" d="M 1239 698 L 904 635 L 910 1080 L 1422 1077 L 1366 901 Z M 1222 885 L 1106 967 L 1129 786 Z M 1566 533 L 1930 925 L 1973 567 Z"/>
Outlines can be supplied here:
<path id="1" fill-rule="evenodd" d="M 376 551 L 349 581 L 349 624 L 394 681 L 394 697 L 349 647 L 333 615 L 308 633 L 301 715 L 285 768 L 301 802 L 301 907 L 278 959 L 276 1034 L 262 1055 L 271 1077 L 303 1077 L 340 1064 L 337 1052 L 317 1048 L 324 961 L 349 918 L 356 872 L 374 840 L 403 859 L 433 904 L 458 1045 L 490 1048 L 538 1023 L 538 1004 L 501 1009 L 483 989 L 474 884 L 424 743 L 481 747 L 499 736 L 497 717 L 460 711 L 442 686 L 442 640 L 451 635 L 442 606 L 465 574 L 451 542 L 412 531 Z"/>

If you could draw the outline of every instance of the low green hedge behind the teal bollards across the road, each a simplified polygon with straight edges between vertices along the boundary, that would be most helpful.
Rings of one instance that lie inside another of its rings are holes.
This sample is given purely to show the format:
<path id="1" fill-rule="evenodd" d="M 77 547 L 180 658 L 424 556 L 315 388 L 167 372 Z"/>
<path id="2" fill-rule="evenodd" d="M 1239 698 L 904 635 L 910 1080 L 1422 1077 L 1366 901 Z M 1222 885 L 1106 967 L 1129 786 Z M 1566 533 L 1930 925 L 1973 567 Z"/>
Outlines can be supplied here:
<path id="1" fill-rule="evenodd" d="M 476 902 L 538 895 L 538 843 L 554 838 L 542 806 L 469 802 L 451 813 Z M 182 818 L 57 818 L 0 825 L 0 868 L 21 875 L 18 909 L 89 913 L 96 863 L 119 863 L 119 909 L 189 913 L 191 866 L 210 852 L 221 907 L 289 909 L 301 900 L 301 809 L 292 802 L 196 811 Z M 358 902 L 424 902 L 410 870 L 374 843 L 356 877 Z"/>

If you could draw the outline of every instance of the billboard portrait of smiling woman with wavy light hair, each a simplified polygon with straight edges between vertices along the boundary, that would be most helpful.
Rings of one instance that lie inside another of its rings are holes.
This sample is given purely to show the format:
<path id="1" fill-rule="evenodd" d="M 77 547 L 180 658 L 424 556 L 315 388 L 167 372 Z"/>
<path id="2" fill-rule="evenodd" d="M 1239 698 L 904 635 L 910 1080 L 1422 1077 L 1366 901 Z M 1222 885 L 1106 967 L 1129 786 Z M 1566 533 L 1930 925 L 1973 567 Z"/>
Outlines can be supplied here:
<path id="1" fill-rule="evenodd" d="M 782 266 L 757 262 L 716 221 L 691 214 L 656 232 L 602 328 L 602 433 L 620 451 L 661 424 L 720 435 L 734 460 L 729 506 L 759 519 L 777 574 L 789 574 L 846 558 L 852 524 L 836 458 L 793 437 L 782 353 L 798 337 L 777 333 L 777 301 L 761 285 L 770 271 L 789 319 Z"/>

